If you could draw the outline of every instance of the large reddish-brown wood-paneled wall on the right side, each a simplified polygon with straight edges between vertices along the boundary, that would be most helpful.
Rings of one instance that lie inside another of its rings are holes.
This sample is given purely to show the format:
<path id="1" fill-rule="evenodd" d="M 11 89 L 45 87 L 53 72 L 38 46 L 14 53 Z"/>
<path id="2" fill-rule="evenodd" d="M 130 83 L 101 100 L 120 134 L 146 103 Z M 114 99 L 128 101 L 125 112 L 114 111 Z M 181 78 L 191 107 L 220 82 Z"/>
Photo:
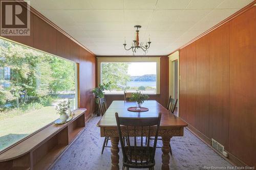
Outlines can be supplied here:
<path id="1" fill-rule="evenodd" d="M 256 7 L 180 50 L 179 115 L 256 165 Z"/>

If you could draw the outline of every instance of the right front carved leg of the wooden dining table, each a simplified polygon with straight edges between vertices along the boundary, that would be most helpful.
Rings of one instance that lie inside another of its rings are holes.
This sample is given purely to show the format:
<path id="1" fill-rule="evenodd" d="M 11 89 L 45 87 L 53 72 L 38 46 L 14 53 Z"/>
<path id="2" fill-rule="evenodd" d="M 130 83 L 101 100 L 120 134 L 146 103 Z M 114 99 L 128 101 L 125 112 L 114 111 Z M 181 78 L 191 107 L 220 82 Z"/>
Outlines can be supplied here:
<path id="1" fill-rule="evenodd" d="M 169 156 L 169 152 L 170 152 L 170 147 L 169 147 L 169 143 L 170 143 L 170 138 L 171 137 L 162 137 L 162 142 L 163 142 L 163 147 L 162 147 L 162 170 L 166 170 L 169 169 L 169 162 L 170 162 L 170 156 Z"/>

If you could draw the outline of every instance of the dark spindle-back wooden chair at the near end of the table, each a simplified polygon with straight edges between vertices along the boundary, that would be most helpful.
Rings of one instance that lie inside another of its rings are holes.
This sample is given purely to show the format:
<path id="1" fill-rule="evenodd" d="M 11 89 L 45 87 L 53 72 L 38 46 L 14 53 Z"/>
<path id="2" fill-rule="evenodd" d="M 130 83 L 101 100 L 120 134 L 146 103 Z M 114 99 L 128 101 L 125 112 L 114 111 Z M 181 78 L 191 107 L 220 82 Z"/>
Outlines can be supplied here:
<path id="1" fill-rule="evenodd" d="M 148 168 L 154 169 L 155 166 L 155 153 L 157 145 L 158 131 L 161 121 L 161 113 L 158 117 L 119 117 L 116 114 L 116 123 L 118 135 L 121 143 L 123 154 L 123 167 L 126 168 Z M 122 127 L 121 127 L 122 126 Z M 121 131 L 122 129 L 122 131 Z M 156 129 L 155 141 L 153 147 L 150 142 L 143 145 L 143 135 L 150 137 L 152 129 Z M 145 131 L 146 130 L 146 131 Z M 125 132 L 126 131 L 126 132 Z M 132 131 L 132 133 L 131 133 Z M 127 142 L 123 140 L 122 133 L 127 134 Z M 146 134 L 145 134 L 146 133 Z M 129 135 L 133 135 L 130 137 Z M 140 144 L 137 145 L 137 138 L 140 137 Z M 134 145 L 131 145 L 130 138 L 134 139 Z"/>

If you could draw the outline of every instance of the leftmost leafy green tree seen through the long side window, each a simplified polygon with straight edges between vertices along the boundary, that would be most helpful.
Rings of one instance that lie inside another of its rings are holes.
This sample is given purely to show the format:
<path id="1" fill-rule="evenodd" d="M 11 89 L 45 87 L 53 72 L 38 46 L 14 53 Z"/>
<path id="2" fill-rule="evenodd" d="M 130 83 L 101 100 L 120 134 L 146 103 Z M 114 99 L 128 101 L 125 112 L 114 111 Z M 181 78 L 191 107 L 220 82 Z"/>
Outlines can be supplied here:
<path id="1" fill-rule="evenodd" d="M 47 81 L 51 81 L 51 77 L 44 53 L 5 40 L 0 42 L 0 53 L 0 68 L 11 69 L 10 86 L 3 89 L 11 94 L 6 100 L 16 99 L 19 106 L 19 103 L 26 102 L 28 96 L 38 98 L 47 94 Z M 2 78 L 1 81 L 5 80 Z"/>

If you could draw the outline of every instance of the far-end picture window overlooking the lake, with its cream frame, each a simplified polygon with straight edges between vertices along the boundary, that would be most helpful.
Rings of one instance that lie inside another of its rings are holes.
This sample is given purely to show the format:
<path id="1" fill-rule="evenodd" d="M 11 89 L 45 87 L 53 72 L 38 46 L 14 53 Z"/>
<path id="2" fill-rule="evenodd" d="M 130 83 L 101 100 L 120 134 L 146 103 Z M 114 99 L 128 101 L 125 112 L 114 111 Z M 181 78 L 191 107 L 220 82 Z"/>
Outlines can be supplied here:
<path id="1" fill-rule="evenodd" d="M 106 94 L 159 93 L 159 58 L 98 58 L 99 82 L 111 82 Z"/>

